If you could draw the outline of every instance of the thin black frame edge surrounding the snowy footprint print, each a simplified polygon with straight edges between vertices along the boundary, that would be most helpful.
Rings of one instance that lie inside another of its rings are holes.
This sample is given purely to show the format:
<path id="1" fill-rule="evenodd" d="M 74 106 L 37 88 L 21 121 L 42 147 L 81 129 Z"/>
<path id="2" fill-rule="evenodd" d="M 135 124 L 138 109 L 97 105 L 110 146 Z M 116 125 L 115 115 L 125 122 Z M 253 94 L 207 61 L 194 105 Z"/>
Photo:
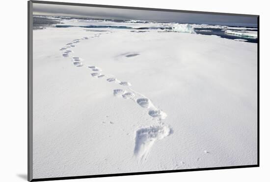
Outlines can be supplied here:
<path id="1" fill-rule="evenodd" d="M 90 7 L 106 7 L 106 8 L 120 8 L 120 9 L 136 9 L 136 10 L 151 10 L 151 11 L 166 11 L 166 12 L 182 12 L 182 13 L 202 13 L 212 15 L 231 15 L 231 16 L 247 16 L 257 17 L 257 164 L 256 165 L 242 165 L 242 166 L 224 166 L 224 167 L 211 167 L 199 169 L 180 169 L 180 170 L 166 170 L 166 171 L 147 171 L 147 172 L 134 172 L 134 173 L 117 173 L 117 174 L 103 174 L 103 175 L 86 175 L 86 176 L 70 176 L 70 177 L 56 177 L 56 178 L 40 178 L 33 179 L 33 3 L 40 4 L 58 4 L 58 5 L 72 5 L 72 6 L 90 6 Z M 219 169 L 236 169 L 236 168 L 251 168 L 260 167 L 260 16 L 249 14 L 236 14 L 236 13 L 219 13 L 219 12 L 206 12 L 206 11 L 188 11 L 188 10 L 175 10 L 175 9 L 160 9 L 160 8 L 145 8 L 145 7 L 131 7 L 131 6 L 113 6 L 101 4 L 85 4 L 85 3 L 70 3 L 70 2 L 55 2 L 55 1 L 40 1 L 29 0 L 27 1 L 27 181 L 40 182 L 40 181 L 54 181 L 54 180 L 72 180 L 72 179 L 85 179 L 85 178 L 101 178 L 101 177 L 114 177 L 114 176 L 131 176 L 131 175 L 145 175 L 145 174 L 162 174 L 162 173 L 177 173 L 188 171 L 206 171 L 206 170 L 219 170 Z"/>

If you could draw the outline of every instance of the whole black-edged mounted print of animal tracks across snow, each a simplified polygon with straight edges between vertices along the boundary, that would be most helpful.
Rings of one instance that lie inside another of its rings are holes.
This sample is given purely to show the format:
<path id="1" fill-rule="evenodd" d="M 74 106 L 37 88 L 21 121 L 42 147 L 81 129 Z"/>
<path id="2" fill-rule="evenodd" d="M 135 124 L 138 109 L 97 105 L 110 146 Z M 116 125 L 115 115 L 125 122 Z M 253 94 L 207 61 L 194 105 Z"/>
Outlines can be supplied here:
<path id="1" fill-rule="evenodd" d="M 259 166 L 259 16 L 28 1 L 28 181 Z"/>

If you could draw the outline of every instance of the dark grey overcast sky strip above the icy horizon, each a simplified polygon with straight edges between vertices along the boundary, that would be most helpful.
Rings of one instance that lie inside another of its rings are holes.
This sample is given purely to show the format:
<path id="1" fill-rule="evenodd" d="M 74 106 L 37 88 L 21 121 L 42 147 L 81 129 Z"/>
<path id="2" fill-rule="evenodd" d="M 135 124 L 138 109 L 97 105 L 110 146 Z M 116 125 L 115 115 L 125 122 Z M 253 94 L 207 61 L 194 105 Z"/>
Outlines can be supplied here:
<path id="1" fill-rule="evenodd" d="M 33 3 L 33 14 L 48 16 L 72 16 L 125 20 L 133 19 L 239 26 L 244 26 L 246 24 L 257 24 L 257 18 L 254 16 L 211 15 L 40 3 Z"/>

